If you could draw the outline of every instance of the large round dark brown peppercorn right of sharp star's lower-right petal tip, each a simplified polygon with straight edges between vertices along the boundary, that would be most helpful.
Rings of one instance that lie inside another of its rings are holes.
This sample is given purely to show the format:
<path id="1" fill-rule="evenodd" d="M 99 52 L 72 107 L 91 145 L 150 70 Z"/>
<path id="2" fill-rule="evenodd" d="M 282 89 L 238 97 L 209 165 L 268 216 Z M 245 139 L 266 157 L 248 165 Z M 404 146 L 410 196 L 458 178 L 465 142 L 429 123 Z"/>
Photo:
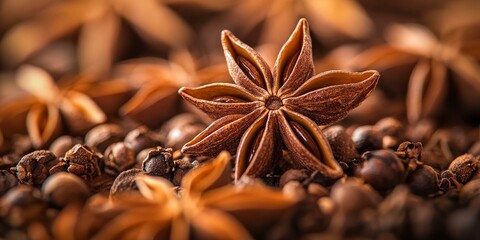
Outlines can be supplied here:
<path id="1" fill-rule="evenodd" d="M 355 175 L 378 191 L 385 191 L 403 179 L 404 167 L 391 150 L 377 150 L 362 155 L 365 161 L 356 169 Z"/>

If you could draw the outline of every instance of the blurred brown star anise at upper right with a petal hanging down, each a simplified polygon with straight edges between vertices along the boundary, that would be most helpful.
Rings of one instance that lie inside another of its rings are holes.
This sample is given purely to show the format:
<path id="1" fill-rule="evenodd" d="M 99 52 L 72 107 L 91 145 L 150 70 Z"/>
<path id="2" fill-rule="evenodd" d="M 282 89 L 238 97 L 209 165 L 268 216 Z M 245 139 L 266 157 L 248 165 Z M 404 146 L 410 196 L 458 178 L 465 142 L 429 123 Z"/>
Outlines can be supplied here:
<path id="1" fill-rule="evenodd" d="M 455 33 L 439 39 L 426 27 L 397 24 L 387 30 L 386 44 L 367 49 L 352 64 L 355 69 L 392 72 L 386 79 L 396 91 L 401 91 L 395 83 L 397 78 L 409 78 L 406 107 L 411 123 L 437 115 L 444 108 L 449 90 L 455 87 L 460 91 L 460 107 L 478 114 L 480 64 L 474 55 L 475 45 L 468 48 L 466 44 L 478 43 L 479 39 L 461 39 Z M 408 70 L 410 66 L 413 70 Z M 457 86 L 450 85 L 449 80 Z"/>

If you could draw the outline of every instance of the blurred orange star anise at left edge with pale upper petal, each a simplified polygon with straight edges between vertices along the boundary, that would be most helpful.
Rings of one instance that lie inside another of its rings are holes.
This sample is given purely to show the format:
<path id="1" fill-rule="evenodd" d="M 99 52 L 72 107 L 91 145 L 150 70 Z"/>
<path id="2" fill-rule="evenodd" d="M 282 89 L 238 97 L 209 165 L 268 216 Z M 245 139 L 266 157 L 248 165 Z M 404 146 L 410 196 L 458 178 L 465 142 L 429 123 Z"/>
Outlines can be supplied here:
<path id="1" fill-rule="evenodd" d="M 83 133 L 106 120 L 90 97 L 68 87 L 59 88 L 42 69 L 23 66 L 18 71 L 17 83 L 33 96 L 2 108 L 0 126 L 27 129 L 37 148 L 50 143 L 67 128 L 72 133 Z"/>

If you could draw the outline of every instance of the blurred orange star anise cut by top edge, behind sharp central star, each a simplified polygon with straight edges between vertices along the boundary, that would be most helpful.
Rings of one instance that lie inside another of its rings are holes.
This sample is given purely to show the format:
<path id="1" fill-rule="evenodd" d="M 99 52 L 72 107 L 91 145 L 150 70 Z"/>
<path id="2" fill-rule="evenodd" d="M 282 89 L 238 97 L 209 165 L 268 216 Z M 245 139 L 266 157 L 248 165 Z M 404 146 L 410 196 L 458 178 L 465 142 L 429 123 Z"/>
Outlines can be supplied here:
<path id="1" fill-rule="evenodd" d="M 251 13 L 257 14 L 252 16 Z M 365 38 L 374 28 L 365 10 L 355 0 L 237 1 L 227 11 L 225 22 L 226 26 L 244 37 L 252 32 L 257 34 L 255 29 L 260 28 L 260 44 L 281 46 L 282 40 L 290 33 L 289 29 L 294 28 L 295 21 L 300 17 L 315 23 L 313 33 L 329 44 L 336 44 L 339 38 Z"/>

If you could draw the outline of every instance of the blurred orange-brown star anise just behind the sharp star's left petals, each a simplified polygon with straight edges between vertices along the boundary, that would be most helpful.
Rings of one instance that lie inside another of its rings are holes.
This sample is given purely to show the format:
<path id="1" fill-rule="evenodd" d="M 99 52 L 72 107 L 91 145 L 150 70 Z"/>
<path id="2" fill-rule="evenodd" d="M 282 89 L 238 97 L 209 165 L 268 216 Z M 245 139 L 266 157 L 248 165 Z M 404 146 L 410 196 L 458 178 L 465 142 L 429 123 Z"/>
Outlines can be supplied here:
<path id="1" fill-rule="evenodd" d="M 203 83 L 226 81 L 223 65 L 200 68 L 193 57 L 182 51 L 164 59 L 134 59 L 119 64 L 116 76 L 138 88 L 138 92 L 120 108 L 120 114 L 154 129 L 180 109 L 178 89 Z M 161 111 L 159 109 L 162 109 Z"/>

